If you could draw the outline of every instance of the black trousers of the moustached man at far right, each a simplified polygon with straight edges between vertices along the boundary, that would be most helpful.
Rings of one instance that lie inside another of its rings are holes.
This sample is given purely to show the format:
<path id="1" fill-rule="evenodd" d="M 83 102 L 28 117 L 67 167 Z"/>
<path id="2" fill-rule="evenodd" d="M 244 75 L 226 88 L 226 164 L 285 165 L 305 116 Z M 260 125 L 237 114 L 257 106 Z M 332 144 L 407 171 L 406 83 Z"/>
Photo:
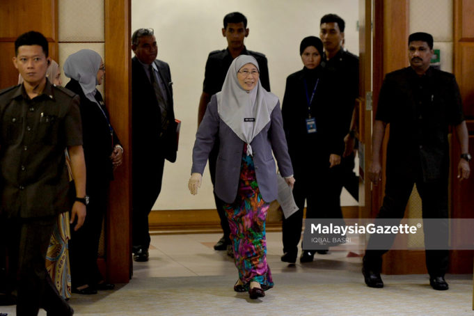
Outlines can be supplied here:
<path id="1" fill-rule="evenodd" d="M 418 193 L 422 201 L 423 219 L 448 219 L 448 177 L 444 176 L 439 180 L 424 182 L 422 180 L 421 168 L 413 172 L 388 173 L 384 203 L 375 221 L 376 224 L 384 225 L 384 219 L 402 219 L 408 203 L 413 184 L 416 184 Z M 390 222 L 391 223 L 391 222 Z M 400 223 L 400 221 L 398 221 Z M 448 222 L 438 221 L 429 225 L 426 221 L 423 224 L 425 233 L 425 255 L 426 265 L 430 276 L 444 276 L 448 270 Z M 381 250 L 365 251 L 365 267 L 373 271 L 380 271 L 382 255 L 392 246 L 395 235 L 372 235 L 368 242 L 368 248 L 375 248 L 375 245 L 384 245 Z M 442 239 L 446 249 L 433 250 L 432 241 Z"/>

